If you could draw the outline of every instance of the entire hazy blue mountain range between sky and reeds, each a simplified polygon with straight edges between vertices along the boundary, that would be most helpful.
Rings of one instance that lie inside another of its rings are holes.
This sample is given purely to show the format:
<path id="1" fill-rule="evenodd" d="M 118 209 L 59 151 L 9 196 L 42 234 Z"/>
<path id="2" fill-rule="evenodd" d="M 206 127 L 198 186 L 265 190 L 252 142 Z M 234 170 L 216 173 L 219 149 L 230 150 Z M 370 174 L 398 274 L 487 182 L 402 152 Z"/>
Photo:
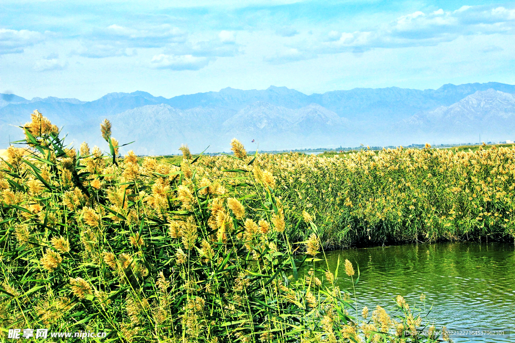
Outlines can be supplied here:
<path id="1" fill-rule="evenodd" d="M 38 109 L 78 147 L 106 149 L 99 124 L 113 123 L 113 137 L 138 154 L 176 154 L 181 143 L 199 152 L 229 151 L 240 139 L 248 150 L 477 142 L 515 138 L 515 85 L 472 83 L 438 89 L 354 88 L 305 95 L 270 86 L 166 99 L 145 92 L 111 93 L 98 100 L 0 97 L 0 148 L 20 139 Z M 251 143 L 254 139 L 255 142 Z"/>

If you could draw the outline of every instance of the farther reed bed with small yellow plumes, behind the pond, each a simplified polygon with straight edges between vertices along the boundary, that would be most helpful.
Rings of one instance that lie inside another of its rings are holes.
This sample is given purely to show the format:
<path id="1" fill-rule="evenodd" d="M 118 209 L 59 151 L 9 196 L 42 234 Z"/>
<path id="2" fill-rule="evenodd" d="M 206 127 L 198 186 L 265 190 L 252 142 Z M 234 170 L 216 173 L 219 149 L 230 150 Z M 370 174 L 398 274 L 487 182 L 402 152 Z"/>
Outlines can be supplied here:
<path id="1" fill-rule="evenodd" d="M 437 150 L 365 149 L 345 155 L 258 154 L 275 178 L 286 221 L 309 212 L 324 248 L 515 238 L 515 146 Z M 245 169 L 229 156 L 206 157 L 198 175 Z M 305 227 L 288 231 L 306 240 Z"/>

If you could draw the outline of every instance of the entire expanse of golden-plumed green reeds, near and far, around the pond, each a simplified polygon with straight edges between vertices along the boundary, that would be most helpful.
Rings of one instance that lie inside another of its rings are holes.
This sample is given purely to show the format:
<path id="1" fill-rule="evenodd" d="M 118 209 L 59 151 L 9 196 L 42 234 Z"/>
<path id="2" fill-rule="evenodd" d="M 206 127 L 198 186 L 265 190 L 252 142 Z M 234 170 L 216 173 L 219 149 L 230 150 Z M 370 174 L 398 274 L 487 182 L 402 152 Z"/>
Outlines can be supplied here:
<path id="1" fill-rule="evenodd" d="M 432 326 L 423 296 L 398 295 L 394 313 L 358 309 L 358 266 L 320 264 L 324 248 L 514 237 L 513 147 L 248 155 L 234 139 L 234 155 L 182 147 L 174 164 L 119 158 L 107 120 L 108 154 L 66 146 L 37 111 L 23 130 L 31 153 L 9 148 L 0 173 L 3 328 L 433 342 L 447 337 L 407 334 Z"/>

